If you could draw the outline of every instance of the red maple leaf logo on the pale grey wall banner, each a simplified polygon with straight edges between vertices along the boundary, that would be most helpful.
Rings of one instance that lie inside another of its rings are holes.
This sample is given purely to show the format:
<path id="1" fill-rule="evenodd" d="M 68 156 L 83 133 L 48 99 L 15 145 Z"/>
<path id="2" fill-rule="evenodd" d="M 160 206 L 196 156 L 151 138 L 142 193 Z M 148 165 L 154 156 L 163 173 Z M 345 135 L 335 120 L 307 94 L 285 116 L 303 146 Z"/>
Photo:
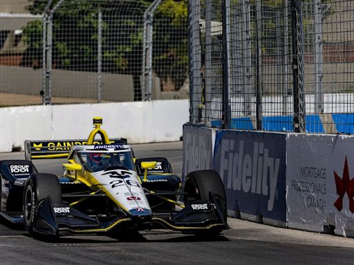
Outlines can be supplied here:
<path id="1" fill-rule="evenodd" d="M 354 178 L 349 177 L 348 161 L 344 163 L 343 177 L 340 178 L 337 173 L 335 173 L 335 186 L 337 187 L 338 199 L 335 201 L 334 206 L 337 210 L 341 211 L 343 208 L 343 197 L 345 194 L 349 198 L 349 210 L 354 213 Z"/>

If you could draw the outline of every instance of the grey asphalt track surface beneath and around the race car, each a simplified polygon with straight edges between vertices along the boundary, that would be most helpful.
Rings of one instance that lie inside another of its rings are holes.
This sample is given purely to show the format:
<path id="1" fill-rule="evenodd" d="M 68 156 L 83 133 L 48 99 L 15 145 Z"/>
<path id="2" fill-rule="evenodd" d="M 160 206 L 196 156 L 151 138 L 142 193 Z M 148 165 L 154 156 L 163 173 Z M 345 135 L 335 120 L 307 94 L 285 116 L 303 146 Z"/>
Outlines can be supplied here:
<path id="1" fill-rule="evenodd" d="M 182 172 L 182 143 L 133 146 L 136 157 L 167 157 Z M 0 154 L 21 159 L 23 153 Z M 62 161 L 36 161 L 41 172 L 61 173 Z M 55 166 L 59 164 L 59 166 Z M 41 242 L 0 223 L 0 264 L 354 264 L 354 239 L 274 228 L 239 219 L 209 240 L 154 230 L 118 240 L 102 235 Z"/>

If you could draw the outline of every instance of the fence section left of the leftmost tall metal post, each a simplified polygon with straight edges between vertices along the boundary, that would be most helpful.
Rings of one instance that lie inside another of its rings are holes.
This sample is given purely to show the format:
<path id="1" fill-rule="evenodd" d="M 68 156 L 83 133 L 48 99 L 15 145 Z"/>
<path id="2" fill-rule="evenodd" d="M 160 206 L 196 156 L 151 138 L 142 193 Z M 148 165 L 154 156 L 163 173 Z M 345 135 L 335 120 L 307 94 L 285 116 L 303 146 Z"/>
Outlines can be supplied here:
<path id="1" fill-rule="evenodd" d="M 41 104 L 41 20 L 0 13 L 0 106 Z"/>

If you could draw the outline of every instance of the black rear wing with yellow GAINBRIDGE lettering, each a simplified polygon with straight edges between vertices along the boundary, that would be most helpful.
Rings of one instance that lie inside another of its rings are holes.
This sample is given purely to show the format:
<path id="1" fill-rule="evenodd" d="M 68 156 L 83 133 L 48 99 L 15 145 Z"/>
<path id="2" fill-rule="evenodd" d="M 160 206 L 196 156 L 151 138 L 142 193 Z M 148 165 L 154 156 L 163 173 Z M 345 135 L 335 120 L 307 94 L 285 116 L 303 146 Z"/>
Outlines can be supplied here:
<path id="1" fill-rule="evenodd" d="M 109 144 L 127 144 L 127 139 L 110 139 Z M 55 141 L 25 141 L 26 160 L 66 158 L 73 146 L 83 146 L 87 140 L 55 140 Z M 103 141 L 93 141 L 93 144 L 106 144 Z"/>

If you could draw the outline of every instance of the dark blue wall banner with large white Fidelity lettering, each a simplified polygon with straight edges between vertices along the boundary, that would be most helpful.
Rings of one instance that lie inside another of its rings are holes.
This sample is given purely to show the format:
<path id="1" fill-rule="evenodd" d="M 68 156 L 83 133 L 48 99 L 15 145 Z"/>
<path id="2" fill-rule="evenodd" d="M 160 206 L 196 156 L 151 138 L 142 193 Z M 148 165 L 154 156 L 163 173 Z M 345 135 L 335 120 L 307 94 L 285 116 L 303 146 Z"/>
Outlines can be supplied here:
<path id="1" fill-rule="evenodd" d="M 216 132 L 214 169 L 223 179 L 228 210 L 286 222 L 285 137 Z"/>

